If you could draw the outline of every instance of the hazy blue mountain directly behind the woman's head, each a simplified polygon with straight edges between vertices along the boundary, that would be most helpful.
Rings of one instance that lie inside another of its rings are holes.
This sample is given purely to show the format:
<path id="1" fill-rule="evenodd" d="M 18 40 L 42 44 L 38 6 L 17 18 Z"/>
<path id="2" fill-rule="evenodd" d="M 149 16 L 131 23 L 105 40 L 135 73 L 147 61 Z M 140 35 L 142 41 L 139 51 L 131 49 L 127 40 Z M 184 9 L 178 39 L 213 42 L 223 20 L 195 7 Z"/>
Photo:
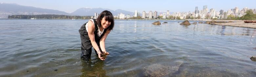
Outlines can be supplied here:
<path id="1" fill-rule="evenodd" d="M 125 15 L 130 14 L 131 16 L 134 14 L 134 12 L 125 11 L 125 10 L 121 10 L 121 9 L 117 9 L 114 11 L 114 10 L 107 9 L 107 8 L 79 8 L 79 9 L 75 10 L 74 12 L 72 12 L 71 14 L 79 15 L 79 16 L 94 16 L 95 12 L 101 13 L 104 10 L 110 11 L 113 14 L 113 16 L 117 16 L 117 14 L 119 14 L 119 13 L 123 13 Z"/>

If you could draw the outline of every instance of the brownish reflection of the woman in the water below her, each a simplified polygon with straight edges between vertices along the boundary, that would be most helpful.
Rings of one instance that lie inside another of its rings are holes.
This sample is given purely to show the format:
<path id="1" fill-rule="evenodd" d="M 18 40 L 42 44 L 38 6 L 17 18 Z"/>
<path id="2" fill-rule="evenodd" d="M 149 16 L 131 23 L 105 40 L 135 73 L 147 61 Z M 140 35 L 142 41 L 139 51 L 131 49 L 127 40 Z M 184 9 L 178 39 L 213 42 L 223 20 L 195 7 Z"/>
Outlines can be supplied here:
<path id="1" fill-rule="evenodd" d="M 102 60 L 95 60 L 91 61 L 85 61 L 81 59 L 82 63 L 82 75 L 80 77 L 88 77 L 88 76 L 93 76 L 93 77 L 106 77 L 106 70 L 103 69 L 104 67 L 104 62 Z"/>

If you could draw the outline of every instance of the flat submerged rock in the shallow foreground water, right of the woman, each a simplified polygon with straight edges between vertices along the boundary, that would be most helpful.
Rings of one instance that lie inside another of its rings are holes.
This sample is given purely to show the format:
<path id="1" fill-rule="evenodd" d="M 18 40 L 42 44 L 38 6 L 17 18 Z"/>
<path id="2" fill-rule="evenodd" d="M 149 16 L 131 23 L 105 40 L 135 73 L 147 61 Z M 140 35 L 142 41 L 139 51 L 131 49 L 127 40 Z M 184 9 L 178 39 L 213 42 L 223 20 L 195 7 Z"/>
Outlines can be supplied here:
<path id="1" fill-rule="evenodd" d="M 183 64 L 182 61 L 177 61 L 170 65 L 152 64 L 143 68 L 144 75 L 147 77 L 171 76 L 173 73 L 179 70 L 181 64 Z"/>

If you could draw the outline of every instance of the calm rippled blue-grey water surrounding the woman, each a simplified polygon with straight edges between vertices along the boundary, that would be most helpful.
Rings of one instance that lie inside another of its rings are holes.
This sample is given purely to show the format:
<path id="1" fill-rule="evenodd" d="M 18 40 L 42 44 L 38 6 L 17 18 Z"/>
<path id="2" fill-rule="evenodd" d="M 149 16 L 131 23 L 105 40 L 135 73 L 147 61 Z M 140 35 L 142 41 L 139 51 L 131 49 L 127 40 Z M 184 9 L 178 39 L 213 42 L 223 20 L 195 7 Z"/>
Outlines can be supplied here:
<path id="1" fill-rule="evenodd" d="M 0 76 L 145 76 L 144 67 L 175 61 L 183 64 L 167 76 L 256 76 L 253 28 L 116 20 L 107 59 L 93 52 L 84 62 L 78 29 L 87 21 L 0 19 Z"/>

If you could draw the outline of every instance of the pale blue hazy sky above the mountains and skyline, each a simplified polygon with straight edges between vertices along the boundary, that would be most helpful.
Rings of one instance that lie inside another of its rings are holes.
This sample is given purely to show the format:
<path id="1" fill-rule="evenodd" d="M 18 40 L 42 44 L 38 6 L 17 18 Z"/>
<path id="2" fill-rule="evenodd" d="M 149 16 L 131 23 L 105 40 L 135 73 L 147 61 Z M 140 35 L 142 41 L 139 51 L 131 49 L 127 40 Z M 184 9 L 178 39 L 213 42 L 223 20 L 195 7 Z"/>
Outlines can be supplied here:
<path id="1" fill-rule="evenodd" d="M 223 9 L 227 11 L 238 7 L 239 10 L 247 8 L 256 8 L 256 0 L 0 0 L 3 3 L 16 3 L 23 6 L 32 6 L 37 8 L 55 9 L 68 13 L 74 12 L 78 8 L 108 8 L 111 10 L 127 10 L 142 13 L 142 11 L 166 11 L 170 12 L 188 12 L 199 10 L 207 5 L 217 11 Z"/>

